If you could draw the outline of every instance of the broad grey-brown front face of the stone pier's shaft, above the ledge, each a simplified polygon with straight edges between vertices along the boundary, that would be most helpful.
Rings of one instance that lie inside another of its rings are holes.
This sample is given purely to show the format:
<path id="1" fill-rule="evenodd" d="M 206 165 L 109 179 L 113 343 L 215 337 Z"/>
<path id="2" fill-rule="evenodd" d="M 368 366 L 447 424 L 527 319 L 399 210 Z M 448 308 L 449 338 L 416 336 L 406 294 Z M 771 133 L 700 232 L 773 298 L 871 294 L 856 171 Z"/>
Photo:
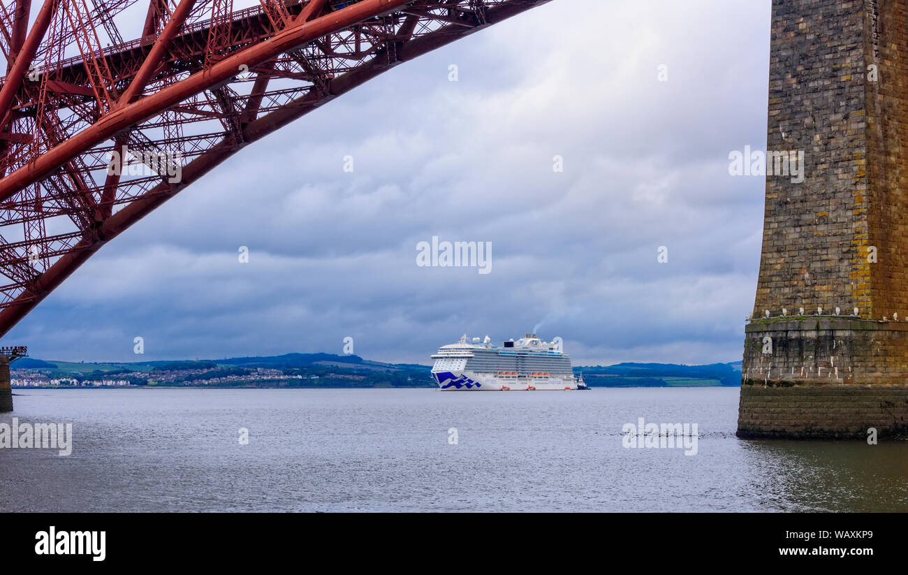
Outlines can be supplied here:
<path id="1" fill-rule="evenodd" d="M 804 182 L 767 175 L 754 317 L 870 312 L 864 2 L 774 0 L 769 151 L 804 150 Z"/>

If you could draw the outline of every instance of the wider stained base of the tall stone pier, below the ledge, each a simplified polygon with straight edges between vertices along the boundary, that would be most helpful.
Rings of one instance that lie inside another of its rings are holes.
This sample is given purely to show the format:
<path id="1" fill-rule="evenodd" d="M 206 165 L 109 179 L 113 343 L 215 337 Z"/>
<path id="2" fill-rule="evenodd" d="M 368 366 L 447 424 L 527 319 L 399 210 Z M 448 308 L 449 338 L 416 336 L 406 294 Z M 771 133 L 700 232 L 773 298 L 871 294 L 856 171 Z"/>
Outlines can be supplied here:
<path id="1" fill-rule="evenodd" d="M 742 437 L 908 434 L 908 323 L 855 318 L 753 322 L 738 411 Z"/>

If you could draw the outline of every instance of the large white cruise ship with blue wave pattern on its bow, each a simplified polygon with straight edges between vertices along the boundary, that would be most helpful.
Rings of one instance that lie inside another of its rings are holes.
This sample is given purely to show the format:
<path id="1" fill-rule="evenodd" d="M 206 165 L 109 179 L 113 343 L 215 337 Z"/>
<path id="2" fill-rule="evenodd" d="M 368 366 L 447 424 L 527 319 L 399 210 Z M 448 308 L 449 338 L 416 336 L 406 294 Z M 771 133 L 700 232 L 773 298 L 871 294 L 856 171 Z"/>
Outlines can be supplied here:
<path id="1" fill-rule="evenodd" d="M 535 333 L 502 347 L 492 345 L 488 335 L 480 342 L 464 334 L 459 342 L 441 346 L 432 359 L 432 377 L 445 391 L 576 390 L 578 383 L 583 387 L 560 343 L 543 342 Z"/>

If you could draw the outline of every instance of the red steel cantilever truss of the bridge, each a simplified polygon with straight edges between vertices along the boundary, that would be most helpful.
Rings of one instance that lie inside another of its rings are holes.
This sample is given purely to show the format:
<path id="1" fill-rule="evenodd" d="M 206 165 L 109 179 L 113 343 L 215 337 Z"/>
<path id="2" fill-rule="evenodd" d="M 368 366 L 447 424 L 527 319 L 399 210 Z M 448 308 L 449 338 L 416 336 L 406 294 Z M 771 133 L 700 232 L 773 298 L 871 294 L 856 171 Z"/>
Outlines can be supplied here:
<path id="1" fill-rule="evenodd" d="M 136 2 L 0 0 L 0 336 L 243 146 L 548 0 L 148 0 L 123 42 Z"/>

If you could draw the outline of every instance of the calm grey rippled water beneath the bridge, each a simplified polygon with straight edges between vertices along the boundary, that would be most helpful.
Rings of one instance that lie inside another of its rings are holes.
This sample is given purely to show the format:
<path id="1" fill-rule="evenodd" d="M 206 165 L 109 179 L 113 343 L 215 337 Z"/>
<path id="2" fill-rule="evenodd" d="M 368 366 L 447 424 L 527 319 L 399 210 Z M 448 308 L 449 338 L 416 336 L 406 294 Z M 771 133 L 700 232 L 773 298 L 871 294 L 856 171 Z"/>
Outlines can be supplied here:
<path id="1" fill-rule="evenodd" d="M 739 440 L 735 388 L 18 393 L 74 449 L 0 449 L 0 511 L 908 511 L 908 444 Z"/>

